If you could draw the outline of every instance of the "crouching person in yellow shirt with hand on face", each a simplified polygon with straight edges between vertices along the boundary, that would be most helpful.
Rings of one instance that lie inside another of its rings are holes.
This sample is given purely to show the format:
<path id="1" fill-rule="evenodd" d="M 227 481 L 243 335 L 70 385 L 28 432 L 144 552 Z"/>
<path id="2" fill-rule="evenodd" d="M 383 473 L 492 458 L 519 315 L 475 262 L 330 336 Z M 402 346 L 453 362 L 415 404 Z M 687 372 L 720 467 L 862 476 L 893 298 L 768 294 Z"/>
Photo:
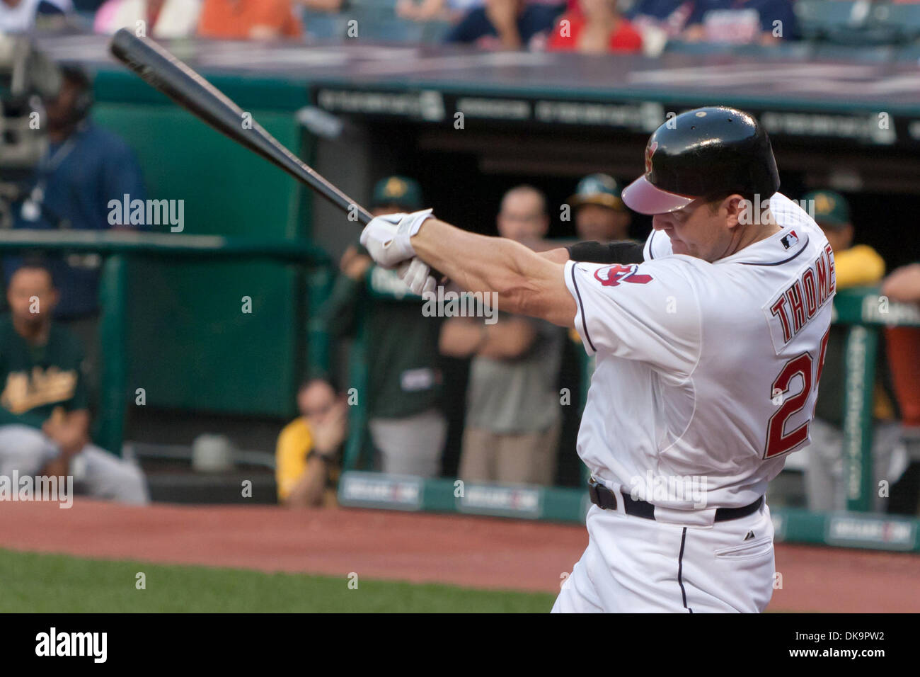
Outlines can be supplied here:
<path id="1" fill-rule="evenodd" d="M 348 404 L 323 379 L 297 393 L 300 416 L 278 436 L 275 479 L 278 501 L 290 508 L 335 505 L 339 453 L 348 423 Z"/>

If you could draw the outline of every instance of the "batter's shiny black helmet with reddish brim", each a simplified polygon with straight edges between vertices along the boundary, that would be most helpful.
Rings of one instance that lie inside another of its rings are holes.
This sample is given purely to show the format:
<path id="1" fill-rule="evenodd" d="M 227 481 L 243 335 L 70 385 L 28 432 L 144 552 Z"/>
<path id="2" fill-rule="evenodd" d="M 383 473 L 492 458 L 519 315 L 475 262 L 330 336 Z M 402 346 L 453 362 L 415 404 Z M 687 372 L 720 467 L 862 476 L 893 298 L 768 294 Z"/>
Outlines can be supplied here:
<path id="1" fill-rule="evenodd" d="M 651 134 L 645 174 L 623 189 L 623 202 L 639 214 L 664 214 L 719 193 L 766 200 L 778 188 L 773 148 L 760 123 L 750 113 L 712 106 L 681 113 Z"/>

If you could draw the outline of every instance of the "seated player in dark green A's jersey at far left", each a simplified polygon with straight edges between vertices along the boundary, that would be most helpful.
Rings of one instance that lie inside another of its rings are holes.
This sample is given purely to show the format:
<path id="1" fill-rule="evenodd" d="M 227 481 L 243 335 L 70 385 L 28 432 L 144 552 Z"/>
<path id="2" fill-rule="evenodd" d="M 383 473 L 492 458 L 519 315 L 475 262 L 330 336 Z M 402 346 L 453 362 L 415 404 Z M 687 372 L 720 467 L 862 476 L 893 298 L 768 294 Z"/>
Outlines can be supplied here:
<path id="1" fill-rule="evenodd" d="M 0 474 L 73 475 L 75 490 L 146 503 L 135 464 L 89 440 L 83 354 L 76 336 L 52 320 L 58 293 L 42 263 L 21 265 L 0 318 Z"/>

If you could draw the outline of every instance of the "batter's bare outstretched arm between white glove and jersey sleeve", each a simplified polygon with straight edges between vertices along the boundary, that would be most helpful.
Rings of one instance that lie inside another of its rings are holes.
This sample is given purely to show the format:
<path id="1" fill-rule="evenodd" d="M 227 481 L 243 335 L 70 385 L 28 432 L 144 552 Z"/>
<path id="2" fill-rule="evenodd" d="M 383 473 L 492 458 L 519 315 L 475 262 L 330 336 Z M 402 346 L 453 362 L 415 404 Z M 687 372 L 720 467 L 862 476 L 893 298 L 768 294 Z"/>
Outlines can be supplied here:
<path id="1" fill-rule="evenodd" d="M 522 244 L 470 233 L 435 218 L 425 221 L 411 242 L 422 261 L 466 291 L 496 292 L 500 308 L 512 313 L 544 317 L 545 282 L 562 279 L 558 263 Z"/>

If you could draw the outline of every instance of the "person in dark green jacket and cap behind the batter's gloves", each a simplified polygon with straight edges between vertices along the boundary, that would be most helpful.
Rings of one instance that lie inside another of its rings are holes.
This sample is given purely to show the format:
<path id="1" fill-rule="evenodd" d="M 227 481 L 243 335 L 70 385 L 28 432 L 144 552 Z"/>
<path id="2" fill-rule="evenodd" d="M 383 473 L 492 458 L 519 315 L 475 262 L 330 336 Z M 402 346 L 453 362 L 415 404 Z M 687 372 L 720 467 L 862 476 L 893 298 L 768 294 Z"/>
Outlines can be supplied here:
<path id="1" fill-rule="evenodd" d="M 374 216 L 422 208 L 418 182 L 391 176 L 374 186 Z M 362 247 L 342 256 L 342 274 L 321 310 L 330 338 L 354 333 L 361 315 L 366 339 L 368 428 L 384 473 L 436 477 L 447 437 L 438 356 L 441 320 L 424 317 L 408 286 Z"/>

